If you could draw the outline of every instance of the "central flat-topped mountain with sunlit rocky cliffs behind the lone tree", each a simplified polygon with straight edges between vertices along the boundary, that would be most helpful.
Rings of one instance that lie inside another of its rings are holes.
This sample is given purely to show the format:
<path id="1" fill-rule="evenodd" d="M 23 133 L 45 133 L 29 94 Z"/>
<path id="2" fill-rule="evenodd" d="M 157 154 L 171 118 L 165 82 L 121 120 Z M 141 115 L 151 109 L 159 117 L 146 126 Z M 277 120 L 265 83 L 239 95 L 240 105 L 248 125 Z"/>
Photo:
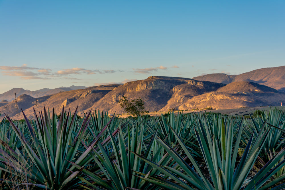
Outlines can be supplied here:
<path id="1" fill-rule="evenodd" d="M 111 112 L 122 113 L 123 109 L 118 102 L 125 96 L 129 100 L 143 99 L 146 110 L 150 112 L 159 111 L 163 108 L 178 109 L 178 104 L 183 103 L 188 98 L 217 90 L 222 86 L 224 84 L 201 82 L 188 78 L 152 76 L 145 80 L 131 81 L 119 85 L 91 108 L 93 110 L 105 110 L 111 107 Z"/>

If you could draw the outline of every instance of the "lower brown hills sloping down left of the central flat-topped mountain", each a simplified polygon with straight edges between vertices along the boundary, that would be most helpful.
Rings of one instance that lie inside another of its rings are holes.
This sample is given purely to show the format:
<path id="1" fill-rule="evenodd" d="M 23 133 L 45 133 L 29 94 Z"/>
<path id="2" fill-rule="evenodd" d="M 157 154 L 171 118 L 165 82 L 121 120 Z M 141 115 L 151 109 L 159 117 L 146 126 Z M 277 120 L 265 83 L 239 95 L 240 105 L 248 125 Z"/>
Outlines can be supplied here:
<path id="1" fill-rule="evenodd" d="M 21 109 L 24 110 L 28 118 L 31 118 L 34 116 L 33 109 L 40 111 L 44 107 L 50 110 L 54 108 L 56 113 L 60 113 L 62 107 L 66 110 L 71 109 L 71 111 L 75 111 L 78 106 L 78 113 L 83 116 L 85 110 L 89 111 L 94 103 L 117 86 L 118 85 L 100 85 L 86 89 L 62 91 L 56 94 L 38 97 L 38 99 L 23 94 L 17 97 L 16 100 L 9 103 L 5 102 L 3 106 L 1 106 L 0 103 L 0 112 L 8 114 L 13 119 L 22 119 L 23 115 L 20 113 Z M 4 114 L 1 114 L 1 119 L 3 119 L 3 117 Z"/>

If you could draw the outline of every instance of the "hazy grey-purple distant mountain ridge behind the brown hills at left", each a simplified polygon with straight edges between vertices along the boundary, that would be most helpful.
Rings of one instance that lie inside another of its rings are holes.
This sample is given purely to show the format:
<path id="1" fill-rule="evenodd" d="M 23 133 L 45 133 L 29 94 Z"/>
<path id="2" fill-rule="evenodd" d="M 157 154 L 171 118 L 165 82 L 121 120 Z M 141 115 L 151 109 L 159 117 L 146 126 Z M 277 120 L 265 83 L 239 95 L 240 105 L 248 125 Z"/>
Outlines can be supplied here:
<path id="1" fill-rule="evenodd" d="M 25 90 L 23 88 L 13 88 L 3 94 L 0 94 L 0 100 L 7 100 L 7 101 L 12 101 L 15 100 L 15 93 L 16 96 L 20 96 L 22 94 L 30 95 L 31 97 L 43 97 L 46 95 L 50 94 L 55 94 L 59 92 L 65 92 L 65 91 L 70 91 L 70 90 L 75 90 L 75 89 L 84 89 L 87 87 L 84 86 L 70 86 L 70 87 L 60 87 L 60 88 L 55 88 L 55 89 L 49 89 L 49 88 L 43 88 L 39 89 L 36 91 L 30 91 L 30 90 Z"/>

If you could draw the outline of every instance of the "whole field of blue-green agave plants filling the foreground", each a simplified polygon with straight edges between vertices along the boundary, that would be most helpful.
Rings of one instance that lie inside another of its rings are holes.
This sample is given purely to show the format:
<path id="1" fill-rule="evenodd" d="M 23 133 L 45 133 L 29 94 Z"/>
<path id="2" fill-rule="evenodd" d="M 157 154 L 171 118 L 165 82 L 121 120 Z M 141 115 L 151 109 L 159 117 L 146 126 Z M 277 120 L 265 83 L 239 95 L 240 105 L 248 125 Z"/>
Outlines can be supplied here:
<path id="1" fill-rule="evenodd" d="M 23 115 L 0 123 L 0 189 L 285 188 L 284 111 Z"/>

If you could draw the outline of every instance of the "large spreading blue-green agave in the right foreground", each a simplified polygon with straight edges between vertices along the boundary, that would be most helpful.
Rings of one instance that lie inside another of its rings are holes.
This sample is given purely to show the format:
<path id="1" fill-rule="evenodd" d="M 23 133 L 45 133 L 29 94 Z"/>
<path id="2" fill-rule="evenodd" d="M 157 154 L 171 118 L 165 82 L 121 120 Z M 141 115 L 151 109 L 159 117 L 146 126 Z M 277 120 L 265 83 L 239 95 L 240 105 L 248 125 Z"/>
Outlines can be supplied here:
<path id="1" fill-rule="evenodd" d="M 144 178 L 146 181 L 151 181 L 156 185 L 160 185 L 166 189 L 230 189 L 239 190 L 243 185 L 244 189 L 266 189 L 274 184 L 268 183 L 266 186 L 261 187 L 274 173 L 276 173 L 281 167 L 285 165 L 285 161 L 281 161 L 277 166 L 276 163 L 285 154 L 285 150 L 282 149 L 274 158 L 272 158 L 266 166 L 262 167 L 258 173 L 251 179 L 247 178 L 249 172 L 253 168 L 255 160 L 260 152 L 260 148 L 263 146 L 266 137 L 270 131 L 270 128 L 263 126 L 262 132 L 258 133 L 255 140 L 253 135 L 248 141 L 243 156 L 238 161 L 238 148 L 240 144 L 242 134 L 242 122 L 239 124 L 239 130 L 237 132 L 236 140 L 234 142 L 234 131 L 232 122 L 223 124 L 221 131 L 221 146 L 218 145 L 219 140 L 215 137 L 215 134 L 210 133 L 208 126 L 203 126 L 199 122 L 196 127 L 196 136 L 205 159 L 207 171 L 210 178 L 205 177 L 205 171 L 203 171 L 196 160 L 192 156 L 189 149 L 183 143 L 182 139 L 178 136 L 174 129 L 172 132 L 178 140 L 180 146 L 187 155 L 191 166 L 182 158 L 170 145 L 164 140 L 157 137 L 158 143 L 163 146 L 164 150 L 175 160 L 180 169 L 175 169 L 167 165 L 157 165 L 151 160 L 144 158 L 136 153 L 138 157 L 152 165 L 155 168 L 159 168 L 161 172 L 169 177 L 169 179 L 161 179 L 158 176 L 152 176 L 152 178 Z M 234 146 L 233 146 L 234 145 Z M 273 169 L 272 169 L 273 167 Z M 282 184 L 284 185 L 284 184 Z"/>

